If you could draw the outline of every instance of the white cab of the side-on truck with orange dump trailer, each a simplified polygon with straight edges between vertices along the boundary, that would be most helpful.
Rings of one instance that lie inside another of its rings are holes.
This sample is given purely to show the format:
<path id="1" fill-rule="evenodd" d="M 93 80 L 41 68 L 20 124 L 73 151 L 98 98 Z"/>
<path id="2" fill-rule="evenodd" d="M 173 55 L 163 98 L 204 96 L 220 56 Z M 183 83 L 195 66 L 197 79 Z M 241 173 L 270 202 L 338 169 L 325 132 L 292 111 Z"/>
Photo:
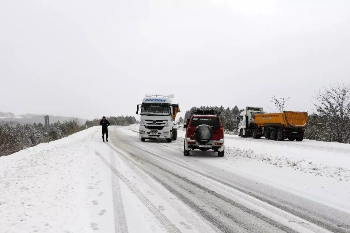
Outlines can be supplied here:
<path id="1" fill-rule="evenodd" d="M 254 119 L 252 118 L 252 113 L 255 112 L 264 112 L 264 109 L 262 107 L 246 107 L 245 111 L 241 112 L 238 121 L 238 133 L 239 136 L 245 137 L 245 136 L 251 136 L 251 125 L 255 124 Z"/>

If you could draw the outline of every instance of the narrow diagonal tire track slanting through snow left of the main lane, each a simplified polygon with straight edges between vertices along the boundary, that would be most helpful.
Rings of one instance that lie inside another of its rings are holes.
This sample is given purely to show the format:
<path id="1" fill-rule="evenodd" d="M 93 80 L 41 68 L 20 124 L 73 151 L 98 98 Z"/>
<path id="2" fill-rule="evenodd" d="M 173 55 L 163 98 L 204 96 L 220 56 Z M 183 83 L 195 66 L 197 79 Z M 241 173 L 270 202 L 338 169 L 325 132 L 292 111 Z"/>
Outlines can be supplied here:
<path id="1" fill-rule="evenodd" d="M 177 228 L 157 207 L 155 207 L 148 198 L 135 187 L 127 178 L 125 178 L 115 167 L 113 167 L 98 151 L 95 154 L 116 174 L 119 179 L 141 200 L 147 209 L 154 215 L 154 217 L 162 224 L 167 232 L 181 233 Z"/>

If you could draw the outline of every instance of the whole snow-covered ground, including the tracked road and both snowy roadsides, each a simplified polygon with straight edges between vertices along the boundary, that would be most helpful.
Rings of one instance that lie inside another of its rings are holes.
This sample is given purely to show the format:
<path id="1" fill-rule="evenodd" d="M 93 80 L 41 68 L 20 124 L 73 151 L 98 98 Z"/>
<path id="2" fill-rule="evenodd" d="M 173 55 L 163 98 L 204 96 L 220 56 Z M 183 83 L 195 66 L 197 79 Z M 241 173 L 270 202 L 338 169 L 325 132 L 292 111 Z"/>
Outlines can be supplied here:
<path id="1" fill-rule="evenodd" d="M 350 232 L 350 145 L 225 135 L 224 157 L 187 157 L 184 132 L 136 132 L 0 157 L 0 232 Z"/>

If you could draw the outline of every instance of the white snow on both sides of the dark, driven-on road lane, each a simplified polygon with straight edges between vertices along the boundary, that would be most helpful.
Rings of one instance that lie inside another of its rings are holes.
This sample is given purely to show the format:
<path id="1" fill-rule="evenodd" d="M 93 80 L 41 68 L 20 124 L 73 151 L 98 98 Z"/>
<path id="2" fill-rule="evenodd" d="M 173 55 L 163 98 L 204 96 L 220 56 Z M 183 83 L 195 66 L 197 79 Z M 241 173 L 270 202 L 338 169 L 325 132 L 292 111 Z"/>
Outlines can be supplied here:
<path id="1" fill-rule="evenodd" d="M 117 132 L 137 140 L 138 127 L 120 127 Z M 154 152 L 169 148 L 171 155 L 184 158 L 184 131 L 178 135 L 172 143 L 154 143 Z M 100 127 L 91 127 L 0 157 L 0 232 L 162 231 L 145 202 L 153 203 L 181 232 L 193 232 L 189 221 L 197 223 L 197 230 L 210 232 L 193 210 L 134 169 L 120 156 L 123 152 L 112 147 L 102 142 Z M 191 156 L 187 160 L 201 162 L 208 169 L 244 174 L 350 213 L 350 145 L 225 135 L 225 152 L 225 157 L 215 160 L 191 160 Z M 108 164 L 118 170 L 111 171 Z"/>

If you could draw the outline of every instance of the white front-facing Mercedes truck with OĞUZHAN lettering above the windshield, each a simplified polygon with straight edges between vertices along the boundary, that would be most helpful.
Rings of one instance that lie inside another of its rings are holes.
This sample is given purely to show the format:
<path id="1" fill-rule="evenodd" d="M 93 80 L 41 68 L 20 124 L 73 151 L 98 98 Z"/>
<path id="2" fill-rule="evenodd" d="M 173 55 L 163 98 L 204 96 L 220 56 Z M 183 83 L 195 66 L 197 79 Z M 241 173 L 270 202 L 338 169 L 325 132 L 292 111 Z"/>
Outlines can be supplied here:
<path id="1" fill-rule="evenodd" d="M 180 108 L 178 104 L 172 103 L 172 98 L 174 94 L 146 94 L 142 104 L 137 105 L 136 114 L 141 115 L 139 134 L 142 142 L 146 139 L 161 139 L 167 142 L 177 139 L 175 117 Z"/>

